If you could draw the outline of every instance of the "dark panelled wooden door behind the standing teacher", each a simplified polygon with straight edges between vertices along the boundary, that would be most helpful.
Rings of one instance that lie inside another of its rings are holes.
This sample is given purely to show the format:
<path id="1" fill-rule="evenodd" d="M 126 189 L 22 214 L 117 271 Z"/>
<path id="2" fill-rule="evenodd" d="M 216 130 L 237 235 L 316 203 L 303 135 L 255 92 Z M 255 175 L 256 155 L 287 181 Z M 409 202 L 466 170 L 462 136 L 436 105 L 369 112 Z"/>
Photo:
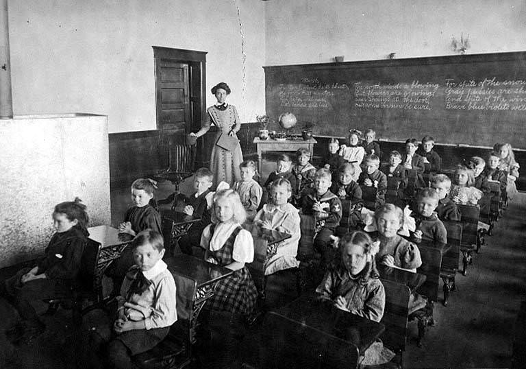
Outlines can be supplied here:
<path id="1" fill-rule="evenodd" d="M 190 132 L 190 82 L 188 63 L 157 59 L 157 125 L 162 131 Z"/>

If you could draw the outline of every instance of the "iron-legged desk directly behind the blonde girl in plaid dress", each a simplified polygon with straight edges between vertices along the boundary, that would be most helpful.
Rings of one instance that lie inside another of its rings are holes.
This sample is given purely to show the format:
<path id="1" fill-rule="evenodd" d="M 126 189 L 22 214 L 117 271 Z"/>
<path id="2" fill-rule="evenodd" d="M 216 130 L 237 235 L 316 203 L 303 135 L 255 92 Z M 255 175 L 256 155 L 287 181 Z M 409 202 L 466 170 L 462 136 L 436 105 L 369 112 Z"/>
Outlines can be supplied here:
<path id="1" fill-rule="evenodd" d="M 249 267 L 255 286 L 258 287 L 260 298 L 264 300 L 266 263 L 276 254 L 279 243 L 291 236 L 288 233 L 264 229 L 255 225 L 247 228 L 249 228 L 248 230 L 254 240 L 254 261 L 247 264 L 247 267 Z"/>

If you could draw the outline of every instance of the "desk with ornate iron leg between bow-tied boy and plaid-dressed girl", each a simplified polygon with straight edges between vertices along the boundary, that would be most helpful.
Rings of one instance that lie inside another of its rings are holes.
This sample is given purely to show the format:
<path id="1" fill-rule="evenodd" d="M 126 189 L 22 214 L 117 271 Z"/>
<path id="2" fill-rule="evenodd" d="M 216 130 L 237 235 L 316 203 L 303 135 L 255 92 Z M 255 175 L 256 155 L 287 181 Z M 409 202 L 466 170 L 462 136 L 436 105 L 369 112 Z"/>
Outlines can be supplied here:
<path id="1" fill-rule="evenodd" d="M 190 320 L 190 342 L 196 342 L 196 329 L 199 312 L 205 302 L 214 296 L 214 289 L 219 281 L 227 278 L 234 271 L 221 265 L 208 263 L 187 254 L 177 254 L 165 260 L 168 270 L 197 282 L 192 319 Z"/>

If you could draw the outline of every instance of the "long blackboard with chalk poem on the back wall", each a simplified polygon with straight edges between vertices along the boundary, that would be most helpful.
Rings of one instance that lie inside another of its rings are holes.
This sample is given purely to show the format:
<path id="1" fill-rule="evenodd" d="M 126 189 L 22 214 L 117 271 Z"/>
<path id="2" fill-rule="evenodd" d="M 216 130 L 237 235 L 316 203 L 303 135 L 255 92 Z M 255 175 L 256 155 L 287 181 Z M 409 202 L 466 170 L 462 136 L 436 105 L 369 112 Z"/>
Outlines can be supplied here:
<path id="1" fill-rule="evenodd" d="M 313 132 L 526 148 L 526 52 L 264 67 L 266 114 Z"/>

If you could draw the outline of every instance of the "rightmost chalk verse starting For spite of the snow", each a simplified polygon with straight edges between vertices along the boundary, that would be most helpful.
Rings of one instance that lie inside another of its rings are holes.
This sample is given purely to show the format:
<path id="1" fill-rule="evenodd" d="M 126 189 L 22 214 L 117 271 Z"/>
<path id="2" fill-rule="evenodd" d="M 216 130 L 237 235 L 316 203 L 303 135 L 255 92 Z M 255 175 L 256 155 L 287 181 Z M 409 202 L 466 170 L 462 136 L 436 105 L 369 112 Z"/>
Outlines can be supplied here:
<path id="1" fill-rule="evenodd" d="M 526 80 L 446 80 L 446 110 L 526 110 Z"/>

